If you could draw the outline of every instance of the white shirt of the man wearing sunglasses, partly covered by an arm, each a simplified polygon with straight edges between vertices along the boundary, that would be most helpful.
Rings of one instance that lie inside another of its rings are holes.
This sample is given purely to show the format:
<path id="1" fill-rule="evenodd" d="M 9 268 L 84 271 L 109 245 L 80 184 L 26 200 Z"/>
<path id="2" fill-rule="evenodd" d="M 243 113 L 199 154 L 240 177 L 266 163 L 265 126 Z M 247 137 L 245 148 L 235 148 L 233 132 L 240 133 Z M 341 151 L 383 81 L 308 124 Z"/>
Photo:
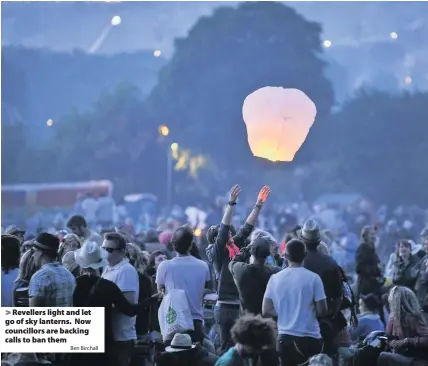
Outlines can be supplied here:
<path id="1" fill-rule="evenodd" d="M 135 268 L 129 264 L 128 259 L 123 259 L 114 267 L 108 266 L 104 270 L 102 277 L 114 282 L 122 292 L 133 292 L 133 301 L 135 304 L 138 303 L 138 273 Z M 135 320 L 135 316 L 126 316 L 113 308 L 113 339 L 115 341 L 129 341 L 131 339 L 137 339 Z"/>

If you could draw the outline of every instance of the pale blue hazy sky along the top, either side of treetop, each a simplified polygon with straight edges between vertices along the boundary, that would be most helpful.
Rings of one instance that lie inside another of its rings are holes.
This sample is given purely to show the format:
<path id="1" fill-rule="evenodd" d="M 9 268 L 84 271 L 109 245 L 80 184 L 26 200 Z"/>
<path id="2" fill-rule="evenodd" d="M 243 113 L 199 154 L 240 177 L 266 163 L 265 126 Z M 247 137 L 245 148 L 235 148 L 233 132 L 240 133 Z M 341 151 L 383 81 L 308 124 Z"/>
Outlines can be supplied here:
<path id="1" fill-rule="evenodd" d="M 99 52 L 135 49 L 173 51 L 199 17 L 237 2 L 2 2 L 3 44 L 88 50 L 114 15 L 122 18 Z M 428 24 L 428 2 L 286 2 L 318 21 L 323 37 L 339 44 L 382 41 L 391 32 Z M 428 37 L 428 35 L 427 35 Z"/>

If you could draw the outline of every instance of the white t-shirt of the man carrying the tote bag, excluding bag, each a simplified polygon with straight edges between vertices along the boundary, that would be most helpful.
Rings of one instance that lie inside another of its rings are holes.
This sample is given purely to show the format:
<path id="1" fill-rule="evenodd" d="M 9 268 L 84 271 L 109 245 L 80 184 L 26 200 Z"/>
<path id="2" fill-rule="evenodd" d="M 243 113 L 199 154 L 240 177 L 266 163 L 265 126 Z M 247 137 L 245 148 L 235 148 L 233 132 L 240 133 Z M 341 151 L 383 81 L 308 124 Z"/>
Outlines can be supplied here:
<path id="1" fill-rule="evenodd" d="M 184 290 L 193 319 L 202 321 L 204 288 L 210 279 L 208 264 L 191 255 L 162 262 L 156 273 L 156 283 L 164 285 L 166 293 Z"/>

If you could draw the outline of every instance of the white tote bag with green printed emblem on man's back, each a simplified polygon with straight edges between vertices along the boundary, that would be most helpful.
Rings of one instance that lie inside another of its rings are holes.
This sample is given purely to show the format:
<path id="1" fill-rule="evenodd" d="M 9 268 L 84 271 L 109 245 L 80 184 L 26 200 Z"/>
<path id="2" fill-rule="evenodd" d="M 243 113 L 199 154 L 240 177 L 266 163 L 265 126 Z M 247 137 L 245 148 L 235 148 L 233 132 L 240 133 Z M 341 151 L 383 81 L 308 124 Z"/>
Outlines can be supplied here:
<path id="1" fill-rule="evenodd" d="M 183 290 L 171 290 L 162 300 L 158 312 L 162 338 L 171 340 L 176 333 L 194 330 L 193 318 Z"/>

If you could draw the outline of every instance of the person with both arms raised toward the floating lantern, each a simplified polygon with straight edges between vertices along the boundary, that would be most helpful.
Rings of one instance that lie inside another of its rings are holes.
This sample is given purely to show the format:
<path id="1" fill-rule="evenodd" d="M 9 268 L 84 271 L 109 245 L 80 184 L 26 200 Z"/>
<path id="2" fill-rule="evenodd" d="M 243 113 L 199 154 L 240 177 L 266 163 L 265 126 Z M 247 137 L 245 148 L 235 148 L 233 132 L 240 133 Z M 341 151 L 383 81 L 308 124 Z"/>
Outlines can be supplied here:
<path id="1" fill-rule="evenodd" d="M 211 226 L 207 232 L 209 246 L 206 250 L 208 260 L 214 267 L 218 281 L 218 298 L 214 308 L 215 321 L 220 326 L 221 349 L 223 353 L 233 346 L 230 329 L 239 317 L 240 300 L 229 263 L 245 247 L 257 218 L 265 203 L 270 189 L 265 186 L 259 192 L 256 205 L 248 216 L 245 224 L 234 234 L 232 217 L 241 188 L 235 185 L 229 194 L 229 203 L 219 226 Z"/>

